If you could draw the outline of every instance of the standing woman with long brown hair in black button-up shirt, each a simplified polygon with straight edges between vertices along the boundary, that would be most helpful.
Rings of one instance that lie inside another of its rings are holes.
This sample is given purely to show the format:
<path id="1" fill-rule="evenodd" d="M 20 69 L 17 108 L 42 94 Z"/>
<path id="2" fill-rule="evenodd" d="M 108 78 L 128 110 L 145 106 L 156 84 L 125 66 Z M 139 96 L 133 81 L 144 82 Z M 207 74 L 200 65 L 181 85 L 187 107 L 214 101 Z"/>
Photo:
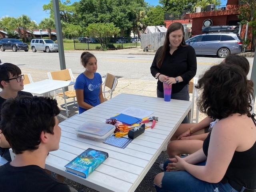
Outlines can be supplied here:
<path id="1" fill-rule="evenodd" d="M 164 45 L 157 50 L 150 70 L 158 79 L 157 97 L 164 98 L 163 82 L 166 82 L 172 84 L 172 99 L 189 100 L 188 83 L 196 75 L 196 53 L 192 46 L 186 45 L 181 23 L 168 27 Z"/>

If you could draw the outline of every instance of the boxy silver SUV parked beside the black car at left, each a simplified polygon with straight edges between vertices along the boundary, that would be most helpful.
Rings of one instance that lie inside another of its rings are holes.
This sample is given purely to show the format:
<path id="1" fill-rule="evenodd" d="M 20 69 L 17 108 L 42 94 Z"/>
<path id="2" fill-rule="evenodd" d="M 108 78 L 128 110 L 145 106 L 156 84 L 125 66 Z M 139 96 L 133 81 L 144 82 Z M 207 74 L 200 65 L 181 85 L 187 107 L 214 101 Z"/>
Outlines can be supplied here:
<path id="1" fill-rule="evenodd" d="M 30 43 L 33 52 L 38 50 L 43 52 L 58 52 L 58 44 L 50 39 L 32 39 Z"/>

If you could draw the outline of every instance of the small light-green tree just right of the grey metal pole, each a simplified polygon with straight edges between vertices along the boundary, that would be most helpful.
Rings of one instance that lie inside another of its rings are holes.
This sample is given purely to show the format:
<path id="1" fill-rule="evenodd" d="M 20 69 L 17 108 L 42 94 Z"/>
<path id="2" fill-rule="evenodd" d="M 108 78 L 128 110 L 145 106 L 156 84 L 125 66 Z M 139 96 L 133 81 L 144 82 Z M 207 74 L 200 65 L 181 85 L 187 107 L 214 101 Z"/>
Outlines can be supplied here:
<path id="1" fill-rule="evenodd" d="M 66 38 L 76 38 L 82 36 L 83 29 L 79 25 L 63 23 L 63 33 Z"/>

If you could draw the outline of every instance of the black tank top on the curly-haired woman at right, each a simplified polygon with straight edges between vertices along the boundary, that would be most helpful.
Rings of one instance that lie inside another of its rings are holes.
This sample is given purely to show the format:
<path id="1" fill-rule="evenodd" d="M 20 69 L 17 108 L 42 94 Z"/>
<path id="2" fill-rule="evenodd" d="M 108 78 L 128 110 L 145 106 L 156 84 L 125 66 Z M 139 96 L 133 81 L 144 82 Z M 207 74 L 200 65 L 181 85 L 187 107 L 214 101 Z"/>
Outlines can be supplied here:
<path id="1" fill-rule="evenodd" d="M 252 120 L 255 124 L 255 119 L 252 118 Z M 208 155 L 210 135 L 211 133 L 208 134 L 203 144 L 203 151 L 206 156 Z M 246 151 L 234 152 L 234 156 L 222 181 L 228 182 L 238 191 L 241 190 L 242 186 L 247 189 L 256 188 L 256 142 Z M 238 186 L 241 188 L 238 188 Z"/>

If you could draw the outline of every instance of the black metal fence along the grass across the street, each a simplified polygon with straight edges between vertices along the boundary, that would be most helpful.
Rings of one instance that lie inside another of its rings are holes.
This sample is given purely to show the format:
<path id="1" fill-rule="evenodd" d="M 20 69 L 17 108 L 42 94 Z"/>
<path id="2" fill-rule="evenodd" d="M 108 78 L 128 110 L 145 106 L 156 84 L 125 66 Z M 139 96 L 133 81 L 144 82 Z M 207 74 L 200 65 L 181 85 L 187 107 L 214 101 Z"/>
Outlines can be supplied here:
<path id="1" fill-rule="evenodd" d="M 110 38 L 109 42 L 104 45 L 100 44 L 97 38 L 74 38 L 75 50 L 118 50 L 138 46 L 140 46 L 140 38 Z"/>

